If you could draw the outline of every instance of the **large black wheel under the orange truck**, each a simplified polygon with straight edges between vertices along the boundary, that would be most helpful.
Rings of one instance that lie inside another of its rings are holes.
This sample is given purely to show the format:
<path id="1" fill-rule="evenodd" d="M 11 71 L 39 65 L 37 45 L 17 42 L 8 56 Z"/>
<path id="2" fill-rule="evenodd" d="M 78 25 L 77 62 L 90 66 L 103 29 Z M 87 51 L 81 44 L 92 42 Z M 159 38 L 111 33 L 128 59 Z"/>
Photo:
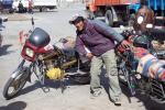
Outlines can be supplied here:
<path id="1" fill-rule="evenodd" d="M 105 20 L 108 25 L 110 25 L 110 26 L 113 25 L 113 14 L 112 14 L 111 10 L 106 11 Z"/>

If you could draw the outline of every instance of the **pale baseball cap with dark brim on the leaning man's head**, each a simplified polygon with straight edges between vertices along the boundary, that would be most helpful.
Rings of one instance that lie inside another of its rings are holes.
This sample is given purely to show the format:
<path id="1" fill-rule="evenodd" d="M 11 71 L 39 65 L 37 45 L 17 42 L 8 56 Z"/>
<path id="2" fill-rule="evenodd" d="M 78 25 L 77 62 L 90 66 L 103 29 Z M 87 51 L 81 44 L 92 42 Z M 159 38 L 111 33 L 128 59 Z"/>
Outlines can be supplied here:
<path id="1" fill-rule="evenodd" d="M 73 15 L 72 19 L 69 20 L 69 23 L 70 23 L 70 24 L 75 24 L 75 23 L 78 23 L 78 22 L 84 21 L 84 20 L 85 20 L 85 19 L 84 19 L 82 15 L 80 15 L 80 14 L 75 14 L 75 15 Z"/>

